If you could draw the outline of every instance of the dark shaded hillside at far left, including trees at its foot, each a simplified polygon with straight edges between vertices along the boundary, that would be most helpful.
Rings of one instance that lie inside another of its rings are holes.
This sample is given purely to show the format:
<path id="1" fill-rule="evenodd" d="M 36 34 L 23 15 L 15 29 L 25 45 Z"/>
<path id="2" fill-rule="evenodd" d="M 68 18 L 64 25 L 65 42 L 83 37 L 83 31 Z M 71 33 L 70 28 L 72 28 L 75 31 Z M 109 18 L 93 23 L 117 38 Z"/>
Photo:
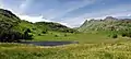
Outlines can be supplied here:
<path id="1" fill-rule="evenodd" d="M 0 9 L 0 42 L 17 42 L 28 39 L 27 31 L 20 32 L 16 27 L 21 20 L 9 10 Z"/>

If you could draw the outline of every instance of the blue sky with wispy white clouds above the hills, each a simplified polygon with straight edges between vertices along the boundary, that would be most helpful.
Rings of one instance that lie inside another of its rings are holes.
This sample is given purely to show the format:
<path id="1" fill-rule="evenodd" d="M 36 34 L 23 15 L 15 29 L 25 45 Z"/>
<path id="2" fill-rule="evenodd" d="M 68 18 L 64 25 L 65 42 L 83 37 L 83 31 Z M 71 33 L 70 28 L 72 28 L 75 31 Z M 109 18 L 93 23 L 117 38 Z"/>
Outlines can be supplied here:
<path id="1" fill-rule="evenodd" d="M 58 22 L 69 27 L 90 19 L 131 17 L 131 0 L 0 0 L 0 8 L 22 20 Z"/>

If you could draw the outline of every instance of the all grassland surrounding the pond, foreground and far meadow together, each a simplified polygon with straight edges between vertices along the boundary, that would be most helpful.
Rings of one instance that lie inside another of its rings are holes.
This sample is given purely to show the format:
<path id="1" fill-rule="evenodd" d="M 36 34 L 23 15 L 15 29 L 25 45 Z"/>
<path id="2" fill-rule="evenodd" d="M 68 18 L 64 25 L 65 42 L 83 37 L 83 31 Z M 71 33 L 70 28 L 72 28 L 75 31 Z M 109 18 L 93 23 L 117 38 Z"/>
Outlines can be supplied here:
<path id="1" fill-rule="evenodd" d="M 97 33 L 56 34 L 35 36 L 34 40 L 76 40 L 80 44 L 55 47 L 0 44 L 0 59 L 131 59 L 130 38 L 110 38 Z"/>

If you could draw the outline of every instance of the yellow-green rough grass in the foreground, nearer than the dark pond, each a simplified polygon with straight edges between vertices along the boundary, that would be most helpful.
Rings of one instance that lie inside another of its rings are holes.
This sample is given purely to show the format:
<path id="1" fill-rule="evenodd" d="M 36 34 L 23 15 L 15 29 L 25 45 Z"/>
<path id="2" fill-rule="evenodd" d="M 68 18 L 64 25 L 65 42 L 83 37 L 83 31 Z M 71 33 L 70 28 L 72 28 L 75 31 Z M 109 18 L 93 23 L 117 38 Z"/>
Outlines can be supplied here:
<path id="1" fill-rule="evenodd" d="M 0 59 L 130 59 L 131 43 L 72 44 L 41 47 L 0 44 Z"/>

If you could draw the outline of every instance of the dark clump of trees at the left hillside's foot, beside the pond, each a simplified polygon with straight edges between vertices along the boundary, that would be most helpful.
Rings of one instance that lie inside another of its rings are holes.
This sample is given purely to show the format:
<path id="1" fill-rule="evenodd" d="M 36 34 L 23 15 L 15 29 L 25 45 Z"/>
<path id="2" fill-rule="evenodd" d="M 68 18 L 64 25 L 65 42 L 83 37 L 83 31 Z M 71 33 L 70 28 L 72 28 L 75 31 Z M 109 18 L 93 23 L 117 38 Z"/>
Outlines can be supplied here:
<path id="1" fill-rule="evenodd" d="M 33 35 L 29 35 L 29 30 L 25 30 L 24 33 L 17 32 L 15 30 L 2 30 L 0 32 L 0 42 L 11 43 L 20 42 L 21 39 L 32 39 Z"/>

